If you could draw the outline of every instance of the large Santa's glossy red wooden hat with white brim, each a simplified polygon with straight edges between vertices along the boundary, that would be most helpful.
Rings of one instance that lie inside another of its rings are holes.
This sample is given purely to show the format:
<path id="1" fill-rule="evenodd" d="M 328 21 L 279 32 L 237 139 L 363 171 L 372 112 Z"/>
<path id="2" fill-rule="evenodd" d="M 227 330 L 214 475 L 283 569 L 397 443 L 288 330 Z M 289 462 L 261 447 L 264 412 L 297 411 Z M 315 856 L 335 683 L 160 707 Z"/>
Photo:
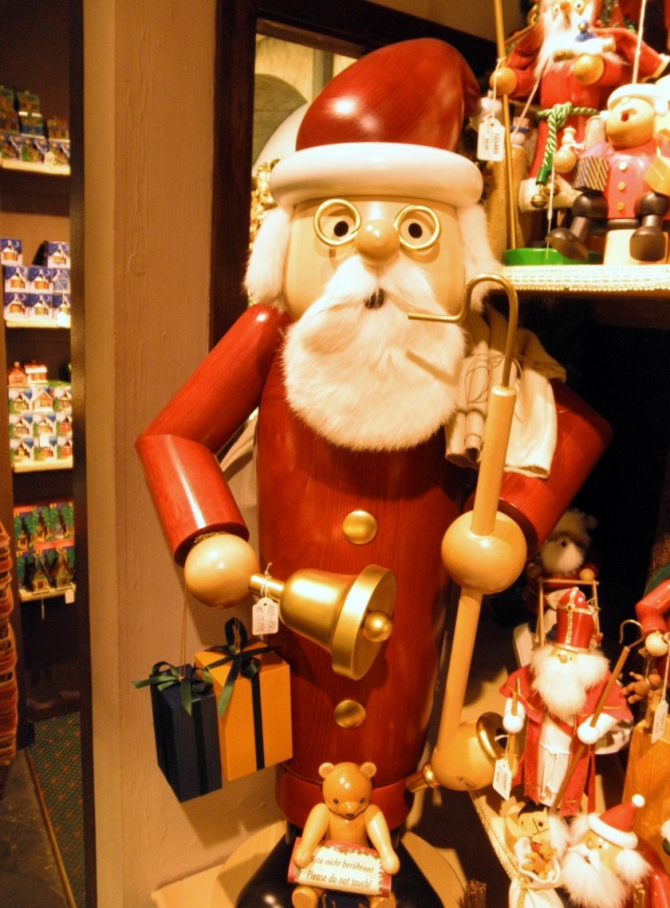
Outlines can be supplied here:
<path id="1" fill-rule="evenodd" d="M 272 197 L 295 205 L 374 192 L 475 204 L 481 175 L 456 148 L 479 104 L 477 80 L 449 44 L 417 38 L 381 47 L 310 104 L 296 153 L 272 171 Z"/>

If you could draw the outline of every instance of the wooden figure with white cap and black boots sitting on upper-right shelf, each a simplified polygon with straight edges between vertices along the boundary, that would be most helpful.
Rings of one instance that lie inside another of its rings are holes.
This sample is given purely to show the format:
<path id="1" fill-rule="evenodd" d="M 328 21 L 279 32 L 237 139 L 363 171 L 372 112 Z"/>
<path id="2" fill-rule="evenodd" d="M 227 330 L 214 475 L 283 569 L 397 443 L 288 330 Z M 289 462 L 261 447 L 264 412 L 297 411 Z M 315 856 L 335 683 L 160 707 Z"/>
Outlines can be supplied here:
<path id="1" fill-rule="evenodd" d="M 579 155 L 573 185 L 572 223 L 547 235 L 550 246 L 570 259 L 588 258 L 586 240 L 595 226 L 635 227 L 630 255 L 642 262 L 665 259 L 663 224 L 670 215 L 667 195 L 655 192 L 647 173 L 661 143 L 655 138 L 656 116 L 667 101 L 655 85 L 623 85 L 607 102 L 606 141 Z"/>

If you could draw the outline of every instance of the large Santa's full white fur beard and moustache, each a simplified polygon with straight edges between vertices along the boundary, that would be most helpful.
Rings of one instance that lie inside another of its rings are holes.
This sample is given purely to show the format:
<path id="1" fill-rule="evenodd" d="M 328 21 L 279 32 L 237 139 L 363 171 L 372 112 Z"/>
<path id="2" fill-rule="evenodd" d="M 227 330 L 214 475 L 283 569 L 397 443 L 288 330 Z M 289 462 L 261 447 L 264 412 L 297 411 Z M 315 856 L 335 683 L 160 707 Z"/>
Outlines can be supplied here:
<path id="1" fill-rule="evenodd" d="M 365 304 L 384 291 L 379 308 Z M 354 450 L 397 450 L 429 439 L 457 402 L 465 351 L 424 272 L 397 259 L 377 274 L 354 255 L 291 325 L 283 354 L 291 409 L 317 434 Z"/>

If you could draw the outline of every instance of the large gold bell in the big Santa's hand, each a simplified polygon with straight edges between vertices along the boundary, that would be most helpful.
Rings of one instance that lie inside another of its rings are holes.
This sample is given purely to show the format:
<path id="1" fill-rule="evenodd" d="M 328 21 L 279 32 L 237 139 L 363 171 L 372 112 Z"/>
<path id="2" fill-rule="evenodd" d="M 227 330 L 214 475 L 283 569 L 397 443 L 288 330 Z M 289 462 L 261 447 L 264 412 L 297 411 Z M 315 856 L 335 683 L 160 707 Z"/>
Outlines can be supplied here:
<path id="1" fill-rule="evenodd" d="M 330 653 L 338 675 L 358 681 L 393 629 L 396 577 L 368 565 L 358 576 L 304 568 L 282 583 L 253 574 L 251 592 L 279 605 L 281 623 Z"/>

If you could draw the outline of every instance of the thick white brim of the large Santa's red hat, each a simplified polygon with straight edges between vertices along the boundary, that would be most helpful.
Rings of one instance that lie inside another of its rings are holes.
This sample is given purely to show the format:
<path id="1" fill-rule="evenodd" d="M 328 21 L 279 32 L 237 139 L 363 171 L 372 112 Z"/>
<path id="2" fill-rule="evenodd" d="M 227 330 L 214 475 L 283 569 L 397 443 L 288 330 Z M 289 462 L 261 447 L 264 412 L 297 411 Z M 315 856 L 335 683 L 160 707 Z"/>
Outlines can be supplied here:
<path id="1" fill-rule="evenodd" d="M 390 195 L 446 202 L 478 202 L 482 178 L 462 154 L 430 145 L 351 142 L 314 145 L 287 155 L 271 173 L 270 191 L 281 205 L 340 195 Z"/>

